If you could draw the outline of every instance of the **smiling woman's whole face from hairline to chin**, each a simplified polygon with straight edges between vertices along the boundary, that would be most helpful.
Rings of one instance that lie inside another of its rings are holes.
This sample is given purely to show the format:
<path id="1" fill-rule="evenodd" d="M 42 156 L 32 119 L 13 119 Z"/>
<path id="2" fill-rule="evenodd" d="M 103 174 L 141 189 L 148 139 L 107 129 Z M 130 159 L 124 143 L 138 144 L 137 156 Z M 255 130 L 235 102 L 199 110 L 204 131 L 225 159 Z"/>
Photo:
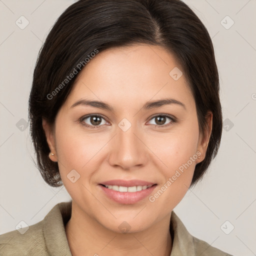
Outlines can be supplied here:
<path id="1" fill-rule="evenodd" d="M 208 142 L 199 136 L 181 67 L 165 49 L 147 44 L 96 54 L 60 108 L 54 131 L 43 125 L 72 200 L 84 216 L 117 232 L 122 225 L 144 230 L 169 216 Z"/>

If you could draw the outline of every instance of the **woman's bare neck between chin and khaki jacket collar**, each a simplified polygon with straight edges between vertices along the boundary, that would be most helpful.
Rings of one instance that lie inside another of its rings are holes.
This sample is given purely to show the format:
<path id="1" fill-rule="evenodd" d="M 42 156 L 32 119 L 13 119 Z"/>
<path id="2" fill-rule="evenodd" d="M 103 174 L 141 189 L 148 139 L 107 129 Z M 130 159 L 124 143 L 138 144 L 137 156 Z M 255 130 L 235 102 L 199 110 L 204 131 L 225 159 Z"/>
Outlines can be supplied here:
<path id="1" fill-rule="evenodd" d="M 170 256 L 172 248 L 169 232 L 170 215 L 146 230 L 119 233 L 102 226 L 95 219 L 77 210 L 76 206 L 72 200 L 71 217 L 65 225 L 72 256 Z"/>

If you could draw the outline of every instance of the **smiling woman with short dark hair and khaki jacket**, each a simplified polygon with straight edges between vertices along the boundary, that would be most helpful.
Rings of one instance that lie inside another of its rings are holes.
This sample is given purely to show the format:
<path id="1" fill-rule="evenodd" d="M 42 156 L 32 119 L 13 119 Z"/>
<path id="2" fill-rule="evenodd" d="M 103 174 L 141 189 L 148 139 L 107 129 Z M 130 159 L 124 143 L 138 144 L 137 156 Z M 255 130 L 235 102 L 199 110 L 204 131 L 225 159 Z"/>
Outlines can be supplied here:
<path id="1" fill-rule="evenodd" d="M 29 98 L 38 169 L 72 200 L 1 255 L 230 255 L 173 208 L 221 138 L 209 34 L 179 0 L 79 0 L 40 50 Z M 23 231 L 22 231 L 23 230 Z"/>

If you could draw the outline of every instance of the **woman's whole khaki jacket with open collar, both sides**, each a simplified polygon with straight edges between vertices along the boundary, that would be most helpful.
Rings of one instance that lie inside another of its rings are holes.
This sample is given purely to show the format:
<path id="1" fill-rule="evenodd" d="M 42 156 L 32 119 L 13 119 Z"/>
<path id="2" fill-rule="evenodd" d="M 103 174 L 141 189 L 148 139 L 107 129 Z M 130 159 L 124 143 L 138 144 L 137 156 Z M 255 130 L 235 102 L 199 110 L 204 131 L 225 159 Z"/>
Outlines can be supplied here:
<path id="1" fill-rule="evenodd" d="M 71 201 L 60 202 L 23 234 L 20 231 L 25 227 L 1 234 L 0 255 L 71 256 L 65 233 L 70 216 Z M 232 256 L 192 236 L 174 211 L 171 212 L 170 227 L 174 237 L 170 256 Z"/>

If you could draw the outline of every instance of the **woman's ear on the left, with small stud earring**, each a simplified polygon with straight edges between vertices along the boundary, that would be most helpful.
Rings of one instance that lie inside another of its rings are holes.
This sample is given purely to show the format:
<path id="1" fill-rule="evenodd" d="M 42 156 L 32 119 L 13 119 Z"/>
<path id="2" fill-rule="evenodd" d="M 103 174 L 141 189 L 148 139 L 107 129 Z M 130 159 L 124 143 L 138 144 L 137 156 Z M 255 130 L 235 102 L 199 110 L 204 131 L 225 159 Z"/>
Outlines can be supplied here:
<path id="1" fill-rule="evenodd" d="M 55 138 L 54 138 L 54 132 L 53 132 L 54 127 L 44 117 L 42 117 L 42 127 L 43 127 L 45 137 L 46 137 L 49 149 L 50 149 L 49 158 L 52 161 L 57 161 Z M 52 153 L 54 155 L 52 155 Z"/>

